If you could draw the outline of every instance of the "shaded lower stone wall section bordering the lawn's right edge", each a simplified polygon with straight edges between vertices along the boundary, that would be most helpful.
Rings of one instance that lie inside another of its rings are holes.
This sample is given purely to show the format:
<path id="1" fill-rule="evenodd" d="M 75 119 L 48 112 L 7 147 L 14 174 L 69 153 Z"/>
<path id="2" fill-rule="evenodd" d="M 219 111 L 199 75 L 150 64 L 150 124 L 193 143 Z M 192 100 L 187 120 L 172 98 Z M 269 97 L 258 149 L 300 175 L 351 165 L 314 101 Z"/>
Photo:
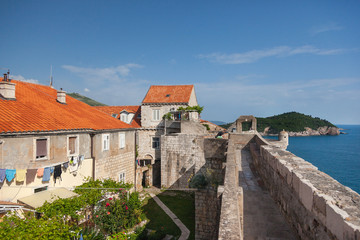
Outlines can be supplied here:
<path id="1" fill-rule="evenodd" d="M 195 192 L 195 239 L 217 239 L 221 196 L 215 190 Z"/>

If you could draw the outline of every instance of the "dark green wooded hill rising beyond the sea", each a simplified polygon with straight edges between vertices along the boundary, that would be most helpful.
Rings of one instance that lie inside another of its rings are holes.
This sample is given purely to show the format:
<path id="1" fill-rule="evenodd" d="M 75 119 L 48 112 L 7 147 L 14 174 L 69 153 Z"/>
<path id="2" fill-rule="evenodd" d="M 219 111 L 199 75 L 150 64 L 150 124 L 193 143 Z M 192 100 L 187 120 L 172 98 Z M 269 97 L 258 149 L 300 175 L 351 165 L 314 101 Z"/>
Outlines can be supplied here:
<path id="1" fill-rule="evenodd" d="M 336 127 L 327 120 L 298 112 L 288 112 L 267 118 L 256 119 L 258 132 L 263 132 L 266 127 L 269 127 L 268 134 L 277 134 L 283 129 L 288 132 L 302 132 L 305 127 L 309 127 L 314 130 L 324 126 Z M 231 124 L 233 123 L 224 124 L 221 125 L 221 127 L 229 128 Z M 250 127 L 250 125 L 245 125 L 244 127 Z"/>

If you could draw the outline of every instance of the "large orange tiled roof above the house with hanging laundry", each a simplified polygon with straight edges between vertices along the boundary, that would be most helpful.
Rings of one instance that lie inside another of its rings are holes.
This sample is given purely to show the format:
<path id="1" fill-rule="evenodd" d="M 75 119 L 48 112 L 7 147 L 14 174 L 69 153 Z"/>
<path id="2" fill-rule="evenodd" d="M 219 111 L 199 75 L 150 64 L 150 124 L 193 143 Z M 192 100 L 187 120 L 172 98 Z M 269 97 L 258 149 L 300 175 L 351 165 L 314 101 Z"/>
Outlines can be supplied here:
<path id="1" fill-rule="evenodd" d="M 57 102 L 57 90 L 51 87 L 12 82 L 16 100 L 0 99 L 0 133 L 132 128 L 70 96 L 66 96 L 66 104 Z"/>

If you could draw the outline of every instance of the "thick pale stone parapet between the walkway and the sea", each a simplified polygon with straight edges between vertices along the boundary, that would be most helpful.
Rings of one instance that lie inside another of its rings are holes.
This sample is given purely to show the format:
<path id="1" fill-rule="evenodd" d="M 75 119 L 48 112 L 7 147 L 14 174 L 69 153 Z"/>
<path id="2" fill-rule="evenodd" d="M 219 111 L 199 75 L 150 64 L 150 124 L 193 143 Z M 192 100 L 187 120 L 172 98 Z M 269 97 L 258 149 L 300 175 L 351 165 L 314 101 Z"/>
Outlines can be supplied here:
<path id="1" fill-rule="evenodd" d="M 309 162 L 251 144 L 254 165 L 301 239 L 360 239 L 360 195 Z"/>

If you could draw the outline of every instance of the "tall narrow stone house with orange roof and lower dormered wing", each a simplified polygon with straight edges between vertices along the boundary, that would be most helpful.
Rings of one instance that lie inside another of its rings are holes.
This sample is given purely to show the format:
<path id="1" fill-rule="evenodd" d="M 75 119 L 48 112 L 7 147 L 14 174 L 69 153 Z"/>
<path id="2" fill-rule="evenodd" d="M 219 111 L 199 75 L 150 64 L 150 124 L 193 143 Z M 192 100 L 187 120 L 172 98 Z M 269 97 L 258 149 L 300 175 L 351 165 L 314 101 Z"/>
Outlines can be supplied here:
<path id="1" fill-rule="evenodd" d="M 194 85 L 153 85 L 141 106 L 95 107 L 137 128 L 137 190 L 142 186 L 160 185 L 160 139 L 166 129 L 163 116 L 175 113 L 180 107 L 197 105 Z M 198 118 L 198 114 L 195 116 Z"/>

